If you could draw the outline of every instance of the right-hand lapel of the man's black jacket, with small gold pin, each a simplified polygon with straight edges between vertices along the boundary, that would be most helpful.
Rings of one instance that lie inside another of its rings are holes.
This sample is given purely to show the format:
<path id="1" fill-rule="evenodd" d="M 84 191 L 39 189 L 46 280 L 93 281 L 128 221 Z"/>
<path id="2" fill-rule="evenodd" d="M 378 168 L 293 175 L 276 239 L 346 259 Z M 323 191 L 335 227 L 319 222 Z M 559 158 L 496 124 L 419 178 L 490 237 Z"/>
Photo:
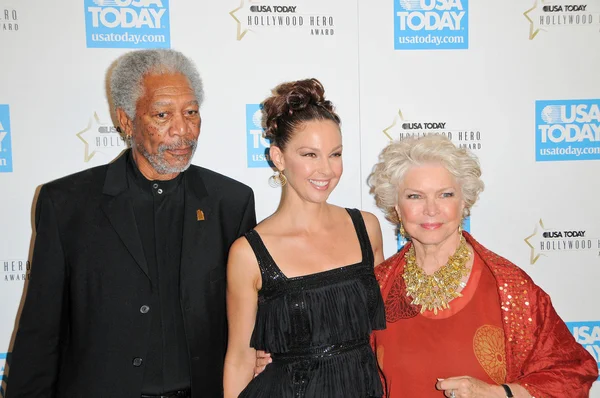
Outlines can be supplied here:
<path id="1" fill-rule="evenodd" d="M 185 209 L 183 213 L 183 242 L 181 244 L 181 267 L 189 269 L 200 258 L 203 241 L 209 225 L 216 215 L 209 205 L 208 192 L 199 169 L 191 167 L 185 172 Z"/>

